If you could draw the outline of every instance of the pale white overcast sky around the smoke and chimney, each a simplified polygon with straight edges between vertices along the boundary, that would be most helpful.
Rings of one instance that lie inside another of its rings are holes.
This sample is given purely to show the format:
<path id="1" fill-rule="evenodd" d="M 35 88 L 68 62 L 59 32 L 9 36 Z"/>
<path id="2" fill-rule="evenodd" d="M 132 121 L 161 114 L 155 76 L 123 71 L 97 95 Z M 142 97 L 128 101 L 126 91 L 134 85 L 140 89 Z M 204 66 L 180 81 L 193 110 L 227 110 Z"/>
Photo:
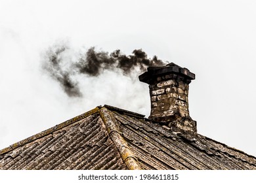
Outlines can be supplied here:
<path id="1" fill-rule="evenodd" d="M 256 156 L 256 1 L 0 0 L 0 149 L 98 105 L 148 116 L 148 85 L 104 71 L 78 77 L 82 98 L 68 97 L 41 68 L 56 42 L 81 50 L 149 58 L 196 74 L 190 116 L 198 133 Z"/>

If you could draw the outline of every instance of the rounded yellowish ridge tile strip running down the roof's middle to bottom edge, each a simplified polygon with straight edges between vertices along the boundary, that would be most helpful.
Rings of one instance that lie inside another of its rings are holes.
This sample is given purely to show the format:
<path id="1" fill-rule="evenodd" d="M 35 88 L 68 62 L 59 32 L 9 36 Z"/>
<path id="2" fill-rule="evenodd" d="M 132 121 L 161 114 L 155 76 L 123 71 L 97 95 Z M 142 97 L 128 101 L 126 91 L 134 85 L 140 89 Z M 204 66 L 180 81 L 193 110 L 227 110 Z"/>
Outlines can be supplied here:
<path id="1" fill-rule="evenodd" d="M 116 120 L 115 118 L 113 118 L 108 108 L 106 107 L 100 108 L 99 113 L 100 113 L 100 117 L 102 118 L 102 121 L 106 125 L 106 129 L 108 131 L 108 134 L 110 135 L 110 139 L 116 146 L 118 152 L 121 155 L 121 158 L 123 159 L 123 162 L 127 165 L 128 169 L 130 170 L 142 169 L 140 167 L 140 164 L 136 156 L 129 149 L 127 142 L 121 136 L 121 132 L 119 130 L 119 127 L 117 126 Z"/>

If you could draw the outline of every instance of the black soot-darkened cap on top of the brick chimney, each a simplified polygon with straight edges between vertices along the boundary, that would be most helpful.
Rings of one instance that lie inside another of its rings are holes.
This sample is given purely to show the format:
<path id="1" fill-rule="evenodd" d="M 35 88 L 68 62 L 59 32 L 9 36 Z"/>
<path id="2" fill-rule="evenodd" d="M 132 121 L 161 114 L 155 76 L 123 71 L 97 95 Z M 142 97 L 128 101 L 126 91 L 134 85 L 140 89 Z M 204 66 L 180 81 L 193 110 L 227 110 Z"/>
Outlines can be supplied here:
<path id="1" fill-rule="evenodd" d="M 196 75 L 194 73 L 191 73 L 188 69 L 182 68 L 179 65 L 171 62 L 162 67 L 148 67 L 148 71 L 140 75 L 139 80 L 141 82 L 146 82 L 147 84 L 150 84 L 158 76 L 163 76 L 167 74 L 183 76 L 188 80 L 194 80 L 196 78 Z"/>

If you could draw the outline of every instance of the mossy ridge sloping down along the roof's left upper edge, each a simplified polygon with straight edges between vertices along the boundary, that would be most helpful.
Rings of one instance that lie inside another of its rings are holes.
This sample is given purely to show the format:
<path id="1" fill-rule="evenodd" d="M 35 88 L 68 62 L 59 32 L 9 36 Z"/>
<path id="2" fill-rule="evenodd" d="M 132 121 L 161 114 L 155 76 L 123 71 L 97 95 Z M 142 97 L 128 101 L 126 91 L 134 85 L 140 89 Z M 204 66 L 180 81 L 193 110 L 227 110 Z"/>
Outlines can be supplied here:
<path id="1" fill-rule="evenodd" d="M 93 108 L 92 110 L 89 110 L 87 112 L 84 112 L 83 114 L 80 114 L 78 116 L 75 116 L 74 118 L 71 118 L 70 120 L 66 120 L 65 122 L 62 122 L 61 124 L 58 124 L 58 125 L 54 125 L 53 127 L 49 128 L 49 129 L 46 129 L 44 131 L 41 131 L 35 135 L 32 135 L 31 137 L 28 137 L 22 141 L 18 141 L 14 144 L 12 144 L 11 146 L 7 147 L 7 148 L 4 148 L 2 150 L 0 150 L 0 155 L 1 154 L 5 154 L 7 152 L 10 152 L 11 150 L 14 150 L 15 148 L 18 148 L 20 146 L 23 146 L 24 144 L 28 144 L 30 142 L 33 142 L 41 137 L 44 137 L 46 135 L 49 135 L 50 133 L 53 133 L 54 131 L 57 131 L 59 129 L 62 129 L 68 125 L 71 125 L 71 124 L 74 124 L 75 122 L 83 119 L 83 118 L 86 118 L 92 114 L 95 114 L 96 112 L 98 112 L 100 110 L 99 107 L 95 107 Z"/>

